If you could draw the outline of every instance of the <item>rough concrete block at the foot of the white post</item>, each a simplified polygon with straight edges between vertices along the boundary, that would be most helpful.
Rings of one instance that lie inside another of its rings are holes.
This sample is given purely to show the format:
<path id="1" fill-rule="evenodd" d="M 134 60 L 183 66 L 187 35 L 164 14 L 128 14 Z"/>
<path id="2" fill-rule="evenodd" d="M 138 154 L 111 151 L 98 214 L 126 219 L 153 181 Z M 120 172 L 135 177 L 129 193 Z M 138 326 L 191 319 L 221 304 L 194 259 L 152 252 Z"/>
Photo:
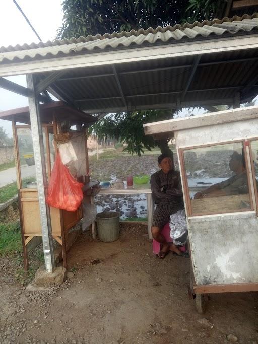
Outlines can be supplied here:
<path id="1" fill-rule="evenodd" d="M 35 274 L 34 284 L 36 286 L 56 285 L 63 283 L 67 276 L 67 269 L 63 266 L 58 266 L 53 273 L 48 273 L 45 266 L 41 266 Z"/>

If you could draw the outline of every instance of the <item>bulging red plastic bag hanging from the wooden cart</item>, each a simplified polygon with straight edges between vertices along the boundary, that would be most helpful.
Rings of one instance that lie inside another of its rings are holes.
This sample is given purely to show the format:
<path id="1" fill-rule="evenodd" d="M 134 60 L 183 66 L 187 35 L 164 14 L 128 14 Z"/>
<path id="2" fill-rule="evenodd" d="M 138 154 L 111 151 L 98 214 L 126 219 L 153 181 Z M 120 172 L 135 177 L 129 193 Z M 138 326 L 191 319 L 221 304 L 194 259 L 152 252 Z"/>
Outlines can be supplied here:
<path id="1" fill-rule="evenodd" d="M 58 152 L 48 185 L 47 204 L 69 212 L 76 211 L 83 200 L 82 186 L 63 165 Z"/>

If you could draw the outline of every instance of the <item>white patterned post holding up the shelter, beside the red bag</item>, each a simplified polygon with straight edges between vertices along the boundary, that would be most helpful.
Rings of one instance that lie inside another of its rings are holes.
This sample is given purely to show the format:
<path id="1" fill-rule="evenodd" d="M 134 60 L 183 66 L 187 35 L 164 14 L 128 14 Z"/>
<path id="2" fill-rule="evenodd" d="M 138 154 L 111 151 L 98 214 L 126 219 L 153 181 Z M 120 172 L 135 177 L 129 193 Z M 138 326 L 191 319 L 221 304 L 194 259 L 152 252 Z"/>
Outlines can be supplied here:
<path id="1" fill-rule="evenodd" d="M 33 75 L 27 74 L 27 87 L 29 89 L 29 110 L 30 123 L 33 142 L 33 152 L 35 159 L 35 169 L 38 188 L 38 201 L 40 211 L 40 222 L 42 230 L 43 252 L 45 258 L 46 271 L 52 273 L 55 269 L 54 251 L 52 243 L 52 229 L 49 207 L 46 203 L 47 177 L 44 155 L 42 126 L 39 114 L 39 101 L 35 92 Z"/>

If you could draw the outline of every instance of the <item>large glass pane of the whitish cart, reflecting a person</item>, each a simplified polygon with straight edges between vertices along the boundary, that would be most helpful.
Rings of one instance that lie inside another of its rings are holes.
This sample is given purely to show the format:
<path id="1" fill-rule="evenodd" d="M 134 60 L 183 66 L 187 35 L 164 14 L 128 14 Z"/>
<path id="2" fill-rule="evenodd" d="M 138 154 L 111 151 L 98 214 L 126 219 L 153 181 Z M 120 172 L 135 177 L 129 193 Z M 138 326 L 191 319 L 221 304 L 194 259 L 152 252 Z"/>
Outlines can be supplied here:
<path id="1" fill-rule="evenodd" d="M 192 215 L 251 209 L 241 142 L 183 154 Z"/>

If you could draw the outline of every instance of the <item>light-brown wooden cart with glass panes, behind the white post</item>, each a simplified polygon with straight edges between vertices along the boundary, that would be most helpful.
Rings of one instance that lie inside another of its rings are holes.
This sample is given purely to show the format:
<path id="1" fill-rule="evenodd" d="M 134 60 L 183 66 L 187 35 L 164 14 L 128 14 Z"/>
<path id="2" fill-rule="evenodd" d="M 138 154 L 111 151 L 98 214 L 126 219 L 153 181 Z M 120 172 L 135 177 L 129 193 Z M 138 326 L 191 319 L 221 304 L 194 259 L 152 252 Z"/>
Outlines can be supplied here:
<path id="1" fill-rule="evenodd" d="M 1 112 L 0 117 L 12 121 L 13 126 L 24 267 L 25 270 L 28 270 L 27 245 L 31 240 L 42 236 L 29 108 Z M 85 180 L 82 176 L 87 174 L 88 169 L 87 137 L 86 130 L 81 127 L 81 124 L 87 126 L 87 124 L 95 122 L 96 118 L 76 110 L 62 101 L 40 105 L 40 118 L 47 178 L 49 179 L 51 176 L 57 152 L 57 143 L 53 140 L 53 136 L 58 132 L 58 123 L 66 123 L 68 127 L 77 125 L 77 128 L 80 128 L 80 131 L 69 129 L 73 135 L 80 136 L 83 143 L 80 147 L 77 145 L 75 148 L 77 155 L 81 158 L 80 174 L 73 173 L 72 170 L 71 173 L 80 181 Z M 82 219 L 82 207 L 75 212 L 50 207 L 50 216 L 52 237 L 61 245 L 63 266 L 67 267 L 66 253 L 72 241 L 69 231 Z"/>

